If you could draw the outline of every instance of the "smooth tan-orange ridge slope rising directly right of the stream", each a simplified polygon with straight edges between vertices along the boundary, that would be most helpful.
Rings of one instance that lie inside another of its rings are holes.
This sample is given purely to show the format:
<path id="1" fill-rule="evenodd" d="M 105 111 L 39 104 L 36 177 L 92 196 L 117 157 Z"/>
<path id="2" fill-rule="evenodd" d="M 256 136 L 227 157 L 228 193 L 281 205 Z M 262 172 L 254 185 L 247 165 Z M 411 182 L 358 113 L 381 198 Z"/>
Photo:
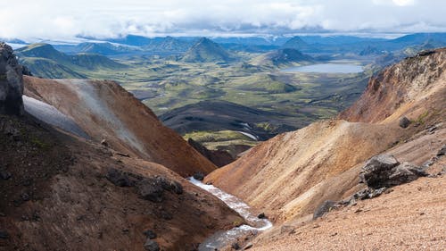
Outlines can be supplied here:
<path id="1" fill-rule="evenodd" d="M 394 137 L 387 137 L 392 132 Z M 397 125 L 320 121 L 252 148 L 241 159 L 211 172 L 205 181 L 277 214 L 279 221 L 314 211 L 327 197 L 340 199 L 358 183 L 352 167 L 392 145 Z M 338 180 L 335 177 L 345 174 Z M 326 182 L 336 188 L 327 188 Z"/>

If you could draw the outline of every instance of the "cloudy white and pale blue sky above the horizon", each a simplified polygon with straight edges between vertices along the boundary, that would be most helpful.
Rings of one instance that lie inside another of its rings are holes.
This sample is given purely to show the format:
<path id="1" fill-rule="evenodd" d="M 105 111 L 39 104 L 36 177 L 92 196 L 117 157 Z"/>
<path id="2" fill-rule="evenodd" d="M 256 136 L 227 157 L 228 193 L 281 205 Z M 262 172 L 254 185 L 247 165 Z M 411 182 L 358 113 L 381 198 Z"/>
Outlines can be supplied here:
<path id="1" fill-rule="evenodd" d="M 444 0 L 15 0 L 0 38 L 446 31 Z"/>

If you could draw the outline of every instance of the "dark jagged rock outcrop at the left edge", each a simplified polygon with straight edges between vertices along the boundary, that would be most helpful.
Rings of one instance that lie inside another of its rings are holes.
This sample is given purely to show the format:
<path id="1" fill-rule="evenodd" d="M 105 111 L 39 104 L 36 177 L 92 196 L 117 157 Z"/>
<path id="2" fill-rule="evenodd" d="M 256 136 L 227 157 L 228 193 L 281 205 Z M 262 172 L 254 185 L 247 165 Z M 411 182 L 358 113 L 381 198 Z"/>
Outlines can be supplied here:
<path id="1" fill-rule="evenodd" d="M 17 62 L 12 47 L 0 43 L 0 113 L 24 113 L 22 66 Z"/>

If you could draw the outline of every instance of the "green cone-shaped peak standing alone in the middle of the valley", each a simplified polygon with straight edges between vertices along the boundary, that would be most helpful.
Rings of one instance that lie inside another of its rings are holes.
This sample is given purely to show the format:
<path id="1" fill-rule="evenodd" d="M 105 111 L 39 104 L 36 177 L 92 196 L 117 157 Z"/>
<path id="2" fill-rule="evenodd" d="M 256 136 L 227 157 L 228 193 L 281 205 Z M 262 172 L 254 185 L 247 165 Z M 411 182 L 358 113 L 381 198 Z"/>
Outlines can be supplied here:
<path id="1" fill-rule="evenodd" d="M 209 38 L 200 38 L 181 58 L 187 63 L 225 63 L 234 61 L 234 59 L 234 55 Z"/>

